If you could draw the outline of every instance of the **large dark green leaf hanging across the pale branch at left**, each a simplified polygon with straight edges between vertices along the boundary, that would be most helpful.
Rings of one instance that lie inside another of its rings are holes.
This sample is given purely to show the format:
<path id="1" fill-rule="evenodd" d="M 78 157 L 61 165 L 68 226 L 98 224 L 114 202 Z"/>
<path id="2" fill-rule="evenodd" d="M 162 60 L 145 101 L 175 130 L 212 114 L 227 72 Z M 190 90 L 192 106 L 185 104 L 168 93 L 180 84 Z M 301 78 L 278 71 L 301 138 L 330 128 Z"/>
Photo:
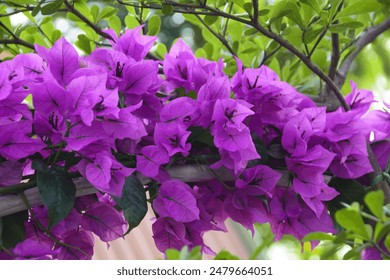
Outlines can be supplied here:
<path id="1" fill-rule="evenodd" d="M 49 213 L 49 229 L 62 221 L 72 210 L 76 186 L 69 172 L 61 166 L 37 169 L 37 185 Z"/>

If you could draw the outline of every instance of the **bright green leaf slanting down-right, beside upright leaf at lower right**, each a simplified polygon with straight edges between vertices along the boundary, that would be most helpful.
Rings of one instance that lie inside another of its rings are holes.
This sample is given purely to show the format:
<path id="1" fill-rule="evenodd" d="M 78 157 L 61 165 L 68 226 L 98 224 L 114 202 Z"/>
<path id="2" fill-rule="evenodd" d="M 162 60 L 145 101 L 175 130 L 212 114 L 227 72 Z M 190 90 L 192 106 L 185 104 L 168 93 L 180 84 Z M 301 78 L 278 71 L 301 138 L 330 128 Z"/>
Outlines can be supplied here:
<path id="1" fill-rule="evenodd" d="M 345 229 L 359 235 L 364 240 L 370 239 L 370 234 L 359 212 L 344 208 L 336 212 L 336 221 Z"/>

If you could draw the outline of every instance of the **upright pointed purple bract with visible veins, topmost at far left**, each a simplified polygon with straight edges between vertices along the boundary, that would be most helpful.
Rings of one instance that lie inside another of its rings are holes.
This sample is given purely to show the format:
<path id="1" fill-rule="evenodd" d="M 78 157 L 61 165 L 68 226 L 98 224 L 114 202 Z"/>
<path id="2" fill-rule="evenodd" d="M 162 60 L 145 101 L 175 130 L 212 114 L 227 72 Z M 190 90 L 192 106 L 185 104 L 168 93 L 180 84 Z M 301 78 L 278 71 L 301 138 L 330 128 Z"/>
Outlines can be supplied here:
<path id="1" fill-rule="evenodd" d="M 35 45 L 35 50 L 46 61 L 51 75 L 62 86 L 69 84 L 72 74 L 80 68 L 77 51 L 64 37 L 57 40 L 49 50 L 39 45 Z"/>

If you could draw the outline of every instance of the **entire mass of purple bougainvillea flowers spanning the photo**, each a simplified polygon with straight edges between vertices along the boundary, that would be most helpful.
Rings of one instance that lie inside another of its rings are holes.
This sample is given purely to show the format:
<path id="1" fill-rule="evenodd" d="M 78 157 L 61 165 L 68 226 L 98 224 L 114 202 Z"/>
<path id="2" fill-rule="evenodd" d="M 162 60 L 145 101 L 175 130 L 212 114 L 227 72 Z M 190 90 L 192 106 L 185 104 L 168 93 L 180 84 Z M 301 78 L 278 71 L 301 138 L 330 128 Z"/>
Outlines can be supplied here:
<path id="1" fill-rule="evenodd" d="M 112 49 L 87 57 L 61 38 L 0 64 L 0 187 L 31 175 L 38 158 L 78 172 L 101 193 L 79 198 L 50 233 L 42 230 L 47 209 L 35 206 L 13 257 L 90 258 L 91 232 L 105 242 L 123 236 L 127 225 L 110 196 L 121 197 L 135 172 L 158 185 L 151 195 L 157 248 L 212 253 L 203 235 L 226 231 L 228 218 L 252 232 L 254 223 L 269 222 L 277 239 L 334 232 L 325 203 L 338 193 L 324 174 L 371 172 L 372 131 L 384 168 L 389 112 L 367 113 L 372 93 L 353 84 L 346 99 L 352 110 L 327 113 L 266 66 L 243 69 L 237 59 L 230 80 L 222 60 L 196 58 L 180 39 L 164 61 L 146 60 L 156 38 L 139 31 L 118 38 L 109 30 Z M 33 109 L 24 102 L 30 94 Z M 169 168 L 188 164 L 208 165 L 216 176 L 171 178 Z"/>

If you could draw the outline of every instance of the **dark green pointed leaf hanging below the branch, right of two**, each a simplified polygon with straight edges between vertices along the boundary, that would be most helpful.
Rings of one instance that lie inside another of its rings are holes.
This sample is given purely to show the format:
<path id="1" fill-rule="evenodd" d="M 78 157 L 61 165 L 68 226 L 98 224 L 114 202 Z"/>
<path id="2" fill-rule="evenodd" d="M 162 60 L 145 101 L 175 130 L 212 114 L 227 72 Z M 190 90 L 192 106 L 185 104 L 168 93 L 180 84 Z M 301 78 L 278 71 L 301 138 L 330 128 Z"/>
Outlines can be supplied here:
<path id="1" fill-rule="evenodd" d="M 123 209 L 126 221 L 129 223 L 129 233 L 137 227 L 148 212 L 145 189 L 137 176 L 126 178 L 122 190 L 122 197 L 113 197 Z"/>

